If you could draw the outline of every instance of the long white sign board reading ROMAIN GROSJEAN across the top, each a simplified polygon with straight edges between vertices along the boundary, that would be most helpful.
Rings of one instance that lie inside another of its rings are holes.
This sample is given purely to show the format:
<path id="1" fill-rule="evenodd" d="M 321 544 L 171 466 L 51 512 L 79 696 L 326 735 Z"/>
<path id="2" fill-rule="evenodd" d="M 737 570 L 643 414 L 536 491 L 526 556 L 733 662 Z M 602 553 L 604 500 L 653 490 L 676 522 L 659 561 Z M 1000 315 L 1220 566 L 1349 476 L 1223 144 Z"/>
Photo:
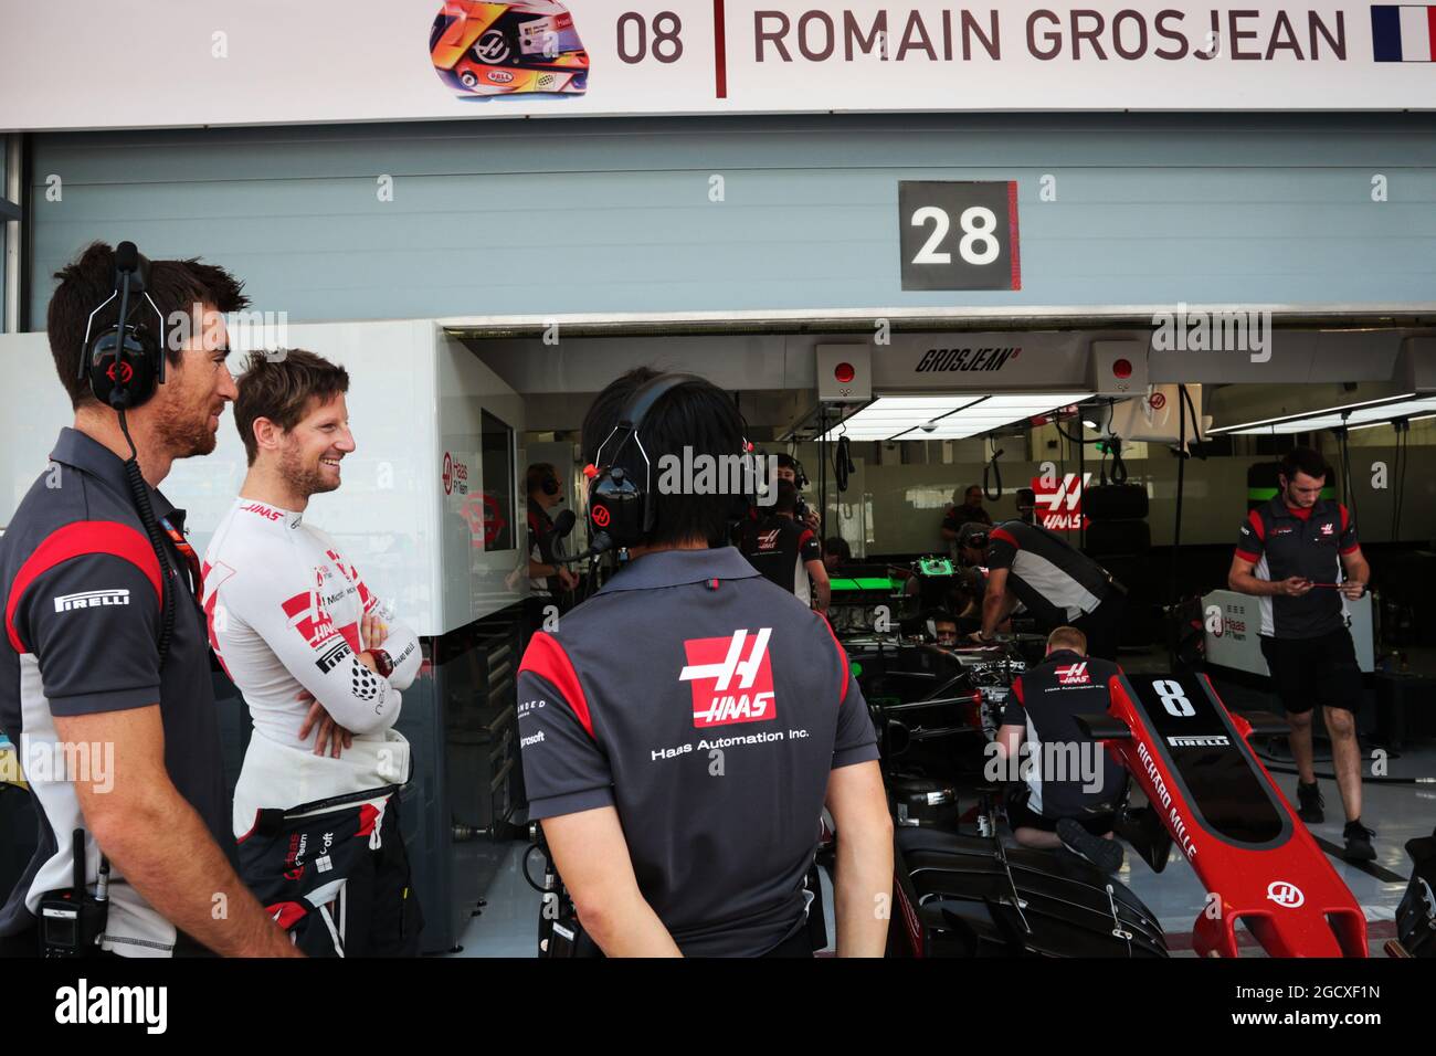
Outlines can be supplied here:
<path id="1" fill-rule="evenodd" d="M 1436 109 L 1426 4 L 16 3 L 0 131 L 523 116 Z M 96 42 L 121 49 L 106 91 Z"/>

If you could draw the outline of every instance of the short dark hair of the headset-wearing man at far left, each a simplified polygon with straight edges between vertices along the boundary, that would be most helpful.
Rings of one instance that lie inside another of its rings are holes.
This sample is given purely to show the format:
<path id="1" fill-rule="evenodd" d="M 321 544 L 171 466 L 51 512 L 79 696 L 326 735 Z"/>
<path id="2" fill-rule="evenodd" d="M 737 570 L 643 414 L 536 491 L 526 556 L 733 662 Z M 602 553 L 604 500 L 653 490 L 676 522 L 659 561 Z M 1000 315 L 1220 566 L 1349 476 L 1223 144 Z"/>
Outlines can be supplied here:
<path id="1" fill-rule="evenodd" d="M 78 411 L 88 404 L 98 405 L 89 386 L 88 372 L 85 378 L 78 375 L 80 361 L 89 355 L 89 349 L 82 348 L 89 315 L 115 292 L 115 250 L 102 241 L 90 243 L 75 260 L 56 272 L 55 279 L 60 284 L 50 296 L 45 328 L 50 336 L 55 371 L 60 375 L 65 391 L 70 394 L 70 407 Z M 208 305 L 225 313 L 248 307 L 250 299 L 243 290 L 244 283 L 233 274 L 215 264 L 201 264 L 198 257 L 149 261 L 146 292 L 165 318 L 167 328 L 174 313 L 190 315 L 194 305 Z M 116 299 L 106 305 L 103 312 L 95 313 L 90 338 L 113 326 L 118 316 Z M 154 329 L 154 312 L 148 305 L 144 306 L 144 312 L 132 312 L 131 319 L 145 319 Z M 171 365 L 178 363 L 181 355 L 184 353 L 165 349 L 165 358 Z"/>

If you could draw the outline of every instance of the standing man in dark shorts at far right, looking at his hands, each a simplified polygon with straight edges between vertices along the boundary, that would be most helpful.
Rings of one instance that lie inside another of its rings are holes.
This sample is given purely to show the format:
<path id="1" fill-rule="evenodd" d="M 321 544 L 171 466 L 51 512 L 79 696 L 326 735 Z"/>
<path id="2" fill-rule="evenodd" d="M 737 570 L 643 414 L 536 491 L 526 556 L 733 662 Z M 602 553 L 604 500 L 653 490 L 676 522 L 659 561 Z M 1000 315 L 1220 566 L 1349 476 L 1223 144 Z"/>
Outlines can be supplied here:
<path id="1" fill-rule="evenodd" d="M 1246 514 L 1226 582 L 1261 599 L 1261 651 L 1287 710 L 1301 819 L 1315 823 L 1324 816 L 1311 756 L 1311 711 L 1321 705 L 1346 807 L 1346 858 L 1367 862 L 1376 858 L 1376 833 L 1361 825 L 1354 711 L 1364 690 L 1347 629 L 1347 601 L 1366 592 L 1371 568 L 1351 511 L 1321 497 L 1330 473 L 1325 458 L 1311 448 L 1287 453 L 1277 477 L 1281 490 Z"/>

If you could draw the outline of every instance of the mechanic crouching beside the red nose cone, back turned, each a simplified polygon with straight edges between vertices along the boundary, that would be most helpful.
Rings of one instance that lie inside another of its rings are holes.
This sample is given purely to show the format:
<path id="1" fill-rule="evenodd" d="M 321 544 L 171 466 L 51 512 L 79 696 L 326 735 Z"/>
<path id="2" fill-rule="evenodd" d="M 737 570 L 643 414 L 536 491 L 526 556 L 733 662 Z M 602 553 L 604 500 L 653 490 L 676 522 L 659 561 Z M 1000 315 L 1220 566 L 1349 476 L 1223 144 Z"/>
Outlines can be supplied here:
<path id="1" fill-rule="evenodd" d="M 1111 830 L 1127 776 L 1076 717 L 1107 710 L 1107 680 L 1117 674 L 1116 664 L 1087 657 L 1081 631 L 1057 628 L 1047 638 L 1047 658 L 1012 682 L 992 746 L 1007 763 L 995 769 L 1021 779 L 1007 802 L 1017 842 L 1067 848 L 1103 872 L 1122 868 Z M 992 769 L 989 761 L 989 776 Z"/>

